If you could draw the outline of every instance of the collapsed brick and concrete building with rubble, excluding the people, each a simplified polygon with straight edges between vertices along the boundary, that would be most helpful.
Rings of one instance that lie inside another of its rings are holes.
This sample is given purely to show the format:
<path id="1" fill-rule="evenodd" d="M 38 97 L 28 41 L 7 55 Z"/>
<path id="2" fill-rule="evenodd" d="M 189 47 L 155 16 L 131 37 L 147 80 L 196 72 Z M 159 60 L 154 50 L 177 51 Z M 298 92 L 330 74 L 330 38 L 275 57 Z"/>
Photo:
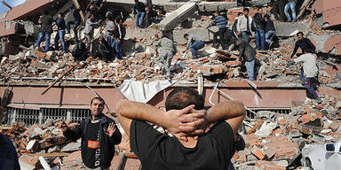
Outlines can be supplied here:
<path id="1" fill-rule="evenodd" d="M 70 143 L 57 128 L 60 120 L 67 120 L 67 126 L 72 128 L 88 117 L 92 97 L 104 98 L 107 115 L 115 119 L 114 108 L 119 99 L 164 108 L 165 97 L 176 87 L 198 89 L 205 97 L 205 105 L 231 99 L 245 104 L 248 118 L 244 120 L 242 134 L 247 149 L 234 154 L 232 162 L 237 169 L 296 169 L 304 166 L 300 163 L 300 151 L 305 143 L 337 142 L 341 138 L 341 20 L 336 15 L 341 12 L 340 4 L 332 0 L 305 0 L 300 2 L 302 16 L 297 22 L 274 21 L 280 46 L 258 51 L 258 81 L 248 81 L 244 78 L 245 69 L 236 63 L 237 53 L 211 47 L 212 33 L 218 28 L 206 28 L 212 21 L 210 13 L 216 11 L 226 12 L 232 26 L 242 11 L 236 2 L 154 3 L 155 8 L 166 13 L 150 27 L 140 29 L 130 16 L 133 1 L 107 0 L 107 9 L 123 12 L 127 29 L 123 42 L 126 58 L 108 63 L 94 57 L 75 63 L 70 53 L 59 50 L 44 53 L 32 46 L 36 43 L 37 20 L 44 8 L 51 9 L 50 14 L 56 18 L 71 5 L 86 6 L 86 2 L 28 0 L 0 14 L 3 91 L 0 120 L 8 125 L 0 130 L 12 137 L 23 169 L 42 168 L 40 157 L 51 167 L 82 167 L 80 143 Z M 249 1 L 249 5 L 250 16 L 257 6 L 263 7 L 264 12 L 272 8 L 271 1 L 264 0 Z M 96 28 L 95 37 L 101 31 L 101 27 Z M 153 42 L 160 31 L 171 35 L 177 43 L 171 82 L 165 81 L 163 72 L 155 72 Z M 317 47 L 318 93 L 322 104 L 305 98 L 305 88 L 298 79 L 299 66 L 286 67 L 297 31 L 303 31 Z M 192 59 L 190 53 L 183 52 L 185 33 L 200 35 L 207 42 L 199 51 L 201 58 Z M 82 37 L 82 31 L 80 34 Z M 75 46 L 72 39 L 66 36 L 66 41 L 72 50 Z M 125 158 L 136 158 L 128 153 L 127 135 L 123 135 L 116 151 L 121 157 L 113 160 L 114 168 L 123 169 Z M 139 160 L 129 161 L 127 166 L 139 169 Z"/>

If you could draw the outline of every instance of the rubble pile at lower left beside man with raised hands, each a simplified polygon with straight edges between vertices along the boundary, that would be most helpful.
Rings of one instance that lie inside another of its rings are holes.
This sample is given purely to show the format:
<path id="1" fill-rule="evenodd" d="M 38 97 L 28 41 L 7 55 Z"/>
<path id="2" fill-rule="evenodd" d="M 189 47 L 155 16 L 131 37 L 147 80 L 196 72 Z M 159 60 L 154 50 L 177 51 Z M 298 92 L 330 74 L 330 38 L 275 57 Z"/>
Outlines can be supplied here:
<path id="1" fill-rule="evenodd" d="M 59 129 L 63 120 L 46 120 L 42 126 L 33 125 L 22 128 L 21 123 L 15 123 L 10 129 L 1 133 L 8 135 L 17 149 L 21 169 L 41 169 L 46 165 L 67 166 L 75 162 L 67 162 L 71 152 L 79 151 L 81 143 L 70 143 Z M 75 128 L 78 123 L 65 121 L 68 128 Z M 65 157 L 65 159 L 63 159 Z M 82 161 L 78 162 L 82 165 Z"/>

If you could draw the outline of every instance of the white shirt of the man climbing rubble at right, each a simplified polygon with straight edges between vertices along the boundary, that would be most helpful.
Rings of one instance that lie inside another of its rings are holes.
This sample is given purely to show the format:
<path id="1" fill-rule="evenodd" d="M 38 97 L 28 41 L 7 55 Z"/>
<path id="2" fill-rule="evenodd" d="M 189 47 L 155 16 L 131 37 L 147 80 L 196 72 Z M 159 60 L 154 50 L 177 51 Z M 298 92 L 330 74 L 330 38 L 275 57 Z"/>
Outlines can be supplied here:
<path id="1" fill-rule="evenodd" d="M 305 77 L 315 77 L 319 72 L 316 66 L 316 57 L 311 54 L 303 54 L 299 58 L 294 59 L 296 63 L 303 62 L 303 71 L 305 72 Z"/>

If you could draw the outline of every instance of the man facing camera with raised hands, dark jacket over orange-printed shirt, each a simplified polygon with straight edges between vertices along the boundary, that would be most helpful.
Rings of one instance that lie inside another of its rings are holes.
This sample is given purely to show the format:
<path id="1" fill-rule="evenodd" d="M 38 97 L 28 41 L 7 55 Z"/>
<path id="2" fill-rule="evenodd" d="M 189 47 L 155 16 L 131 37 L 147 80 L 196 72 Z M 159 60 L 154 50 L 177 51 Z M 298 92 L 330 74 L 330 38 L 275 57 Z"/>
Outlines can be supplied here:
<path id="1" fill-rule="evenodd" d="M 65 122 L 63 135 L 75 141 L 82 138 L 82 160 L 86 170 L 109 169 L 115 154 L 115 144 L 121 143 L 122 135 L 115 120 L 103 114 L 104 100 L 94 97 L 91 100 L 91 117 L 82 121 L 76 128 L 67 128 Z"/>

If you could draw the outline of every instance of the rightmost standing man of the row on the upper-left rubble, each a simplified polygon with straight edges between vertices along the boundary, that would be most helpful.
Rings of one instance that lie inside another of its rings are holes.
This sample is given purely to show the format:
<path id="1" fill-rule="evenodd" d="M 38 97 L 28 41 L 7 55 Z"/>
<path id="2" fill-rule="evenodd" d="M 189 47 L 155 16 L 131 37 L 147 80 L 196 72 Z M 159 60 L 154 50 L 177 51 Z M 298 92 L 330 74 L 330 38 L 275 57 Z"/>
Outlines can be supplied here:
<path id="1" fill-rule="evenodd" d="M 120 17 L 115 18 L 115 39 L 112 44 L 112 49 L 115 50 L 115 58 L 122 59 L 122 44 L 125 36 L 125 27 L 122 24 Z"/>

